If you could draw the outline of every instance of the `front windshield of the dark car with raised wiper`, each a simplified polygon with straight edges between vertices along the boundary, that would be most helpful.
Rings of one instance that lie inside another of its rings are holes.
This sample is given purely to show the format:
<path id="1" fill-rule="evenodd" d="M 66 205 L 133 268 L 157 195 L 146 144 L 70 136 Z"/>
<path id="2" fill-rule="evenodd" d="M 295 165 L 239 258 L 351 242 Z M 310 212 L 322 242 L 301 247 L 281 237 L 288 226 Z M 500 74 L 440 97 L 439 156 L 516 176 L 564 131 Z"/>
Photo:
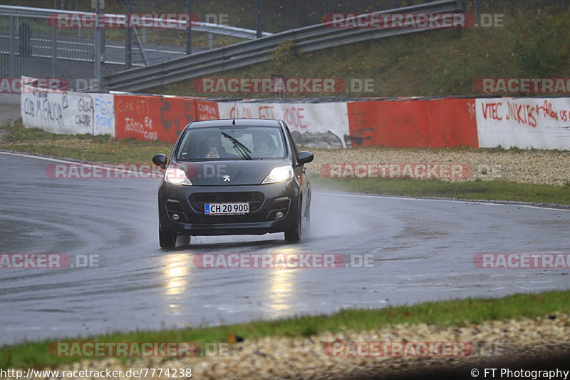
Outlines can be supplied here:
<path id="1" fill-rule="evenodd" d="M 176 152 L 178 161 L 264 160 L 284 158 L 285 143 L 277 127 L 189 128 Z"/>

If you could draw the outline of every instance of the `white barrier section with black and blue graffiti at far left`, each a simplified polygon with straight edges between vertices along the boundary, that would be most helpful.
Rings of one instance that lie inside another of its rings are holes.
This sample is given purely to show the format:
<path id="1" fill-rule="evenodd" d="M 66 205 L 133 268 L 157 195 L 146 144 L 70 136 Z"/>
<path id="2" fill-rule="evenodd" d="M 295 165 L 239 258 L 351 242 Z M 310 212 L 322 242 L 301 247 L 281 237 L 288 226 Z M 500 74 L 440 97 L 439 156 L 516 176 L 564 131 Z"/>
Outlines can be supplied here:
<path id="1" fill-rule="evenodd" d="M 46 91 L 27 87 L 21 93 L 24 126 L 51 133 L 115 135 L 113 95 Z"/>

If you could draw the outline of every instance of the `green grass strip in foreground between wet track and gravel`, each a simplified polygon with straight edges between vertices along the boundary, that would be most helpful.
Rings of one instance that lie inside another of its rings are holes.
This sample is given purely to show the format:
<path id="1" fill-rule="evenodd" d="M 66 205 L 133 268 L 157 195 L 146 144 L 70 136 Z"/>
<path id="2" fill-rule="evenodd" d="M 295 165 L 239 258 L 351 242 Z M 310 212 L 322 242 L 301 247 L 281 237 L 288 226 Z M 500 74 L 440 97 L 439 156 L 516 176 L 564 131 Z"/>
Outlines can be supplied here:
<path id="1" fill-rule="evenodd" d="M 570 312 L 570 292 L 514 294 L 500 299 L 464 299 L 449 302 L 425 302 L 413 306 L 384 309 L 342 310 L 331 316 L 294 317 L 276 321 L 251 322 L 221 327 L 177 329 L 160 332 L 128 332 L 81 338 L 81 342 L 227 342 L 230 334 L 245 342 L 262 337 L 309 337 L 321 332 L 346 329 L 366 331 L 391 324 L 435 324 L 467 327 L 489 319 L 521 319 L 544 317 L 554 312 Z M 39 367 L 78 361 L 82 358 L 51 356 L 50 340 L 0 348 L 0 367 Z"/>

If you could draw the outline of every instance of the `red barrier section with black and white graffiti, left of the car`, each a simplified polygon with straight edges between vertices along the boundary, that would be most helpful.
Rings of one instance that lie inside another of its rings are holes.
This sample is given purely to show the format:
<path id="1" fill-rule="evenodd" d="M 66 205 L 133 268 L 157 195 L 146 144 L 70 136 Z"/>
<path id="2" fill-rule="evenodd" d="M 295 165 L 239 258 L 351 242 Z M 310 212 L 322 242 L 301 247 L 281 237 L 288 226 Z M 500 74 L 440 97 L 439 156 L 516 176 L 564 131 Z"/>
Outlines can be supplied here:
<path id="1" fill-rule="evenodd" d="M 115 136 L 175 143 L 196 120 L 195 100 L 167 96 L 115 95 Z"/>

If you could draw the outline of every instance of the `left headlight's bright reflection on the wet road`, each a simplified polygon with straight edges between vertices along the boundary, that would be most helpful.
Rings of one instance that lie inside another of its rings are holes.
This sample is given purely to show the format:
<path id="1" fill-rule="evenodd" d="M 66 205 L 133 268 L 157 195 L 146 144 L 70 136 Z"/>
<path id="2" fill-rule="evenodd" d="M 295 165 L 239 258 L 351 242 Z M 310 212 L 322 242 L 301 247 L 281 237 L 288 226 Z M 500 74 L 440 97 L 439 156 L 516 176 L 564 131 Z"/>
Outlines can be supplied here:
<path id="1" fill-rule="evenodd" d="M 167 300 L 170 302 L 168 306 L 170 312 L 176 314 L 177 310 L 180 309 L 180 294 L 184 293 L 187 287 L 188 267 L 192 263 L 188 259 L 187 254 L 168 255 L 165 257 L 165 260 L 166 295 Z"/>

